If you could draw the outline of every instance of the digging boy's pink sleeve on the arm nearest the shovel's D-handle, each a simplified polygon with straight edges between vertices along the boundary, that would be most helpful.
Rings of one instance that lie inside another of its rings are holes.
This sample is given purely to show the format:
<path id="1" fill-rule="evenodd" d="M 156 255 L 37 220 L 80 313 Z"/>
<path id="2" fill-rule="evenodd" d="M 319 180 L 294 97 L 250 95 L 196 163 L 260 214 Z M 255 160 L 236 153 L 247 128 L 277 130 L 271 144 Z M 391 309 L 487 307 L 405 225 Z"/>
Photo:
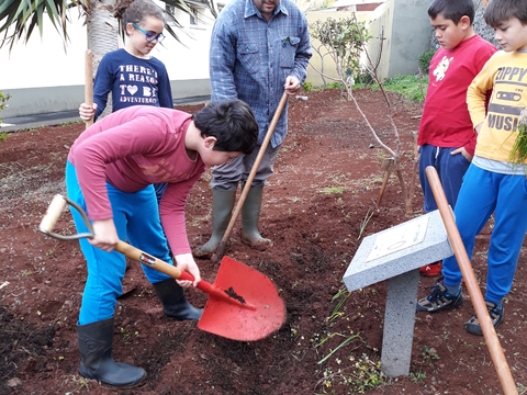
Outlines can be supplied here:
<path id="1" fill-rule="evenodd" d="M 89 136 L 75 147 L 74 165 L 91 219 L 113 217 L 106 192 L 106 163 L 131 155 L 155 151 L 166 142 L 162 122 L 156 117 L 137 116 L 113 127 L 101 125 L 105 126 L 109 128 Z"/>

